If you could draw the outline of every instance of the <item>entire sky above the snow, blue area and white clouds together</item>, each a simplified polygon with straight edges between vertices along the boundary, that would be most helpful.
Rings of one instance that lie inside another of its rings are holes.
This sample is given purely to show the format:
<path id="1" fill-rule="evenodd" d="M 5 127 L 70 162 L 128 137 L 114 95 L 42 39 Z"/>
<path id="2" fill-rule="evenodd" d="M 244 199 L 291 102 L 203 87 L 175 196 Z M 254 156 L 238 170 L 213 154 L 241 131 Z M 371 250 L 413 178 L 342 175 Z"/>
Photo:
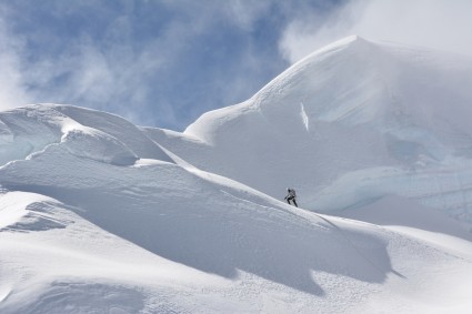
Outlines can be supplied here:
<path id="1" fill-rule="evenodd" d="M 182 131 L 345 36 L 471 53 L 468 0 L 0 0 L 0 109 L 54 102 Z"/>

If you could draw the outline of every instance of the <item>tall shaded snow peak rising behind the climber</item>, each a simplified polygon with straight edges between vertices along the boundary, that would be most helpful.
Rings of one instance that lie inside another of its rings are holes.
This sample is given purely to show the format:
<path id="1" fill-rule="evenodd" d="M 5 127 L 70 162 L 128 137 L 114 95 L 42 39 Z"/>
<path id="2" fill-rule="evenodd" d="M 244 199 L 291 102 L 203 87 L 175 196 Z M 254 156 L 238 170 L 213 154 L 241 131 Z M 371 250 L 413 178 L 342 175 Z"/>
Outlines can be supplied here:
<path id="1" fill-rule="evenodd" d="M 191 138 L 152 136 L 190 163 L 272 196 L 293 186 L 312 210 L 401 193 L 471 220 L 472 181 L 456 178 L 472 156 L 471 85 L 470 59 L 351 37 L 294 64 L 244 103 L 203 114 L 185 130 Z M 380 175 L 385 166 L 398 172 L 393 181 Z M 453 188 L 438 188 L 439 172 Z M 340 184 L 347 176 L 349 185 Z M 372 176 L 376 190 L 355 193 Z M 463 197 L 452 202 L 449 192 Z M 344 193 L 356 196 L 338 202 Z M 429 193 L 434 201 L 424 199 Z M 327 201 L 308 196 L 314 194 Z"/>

